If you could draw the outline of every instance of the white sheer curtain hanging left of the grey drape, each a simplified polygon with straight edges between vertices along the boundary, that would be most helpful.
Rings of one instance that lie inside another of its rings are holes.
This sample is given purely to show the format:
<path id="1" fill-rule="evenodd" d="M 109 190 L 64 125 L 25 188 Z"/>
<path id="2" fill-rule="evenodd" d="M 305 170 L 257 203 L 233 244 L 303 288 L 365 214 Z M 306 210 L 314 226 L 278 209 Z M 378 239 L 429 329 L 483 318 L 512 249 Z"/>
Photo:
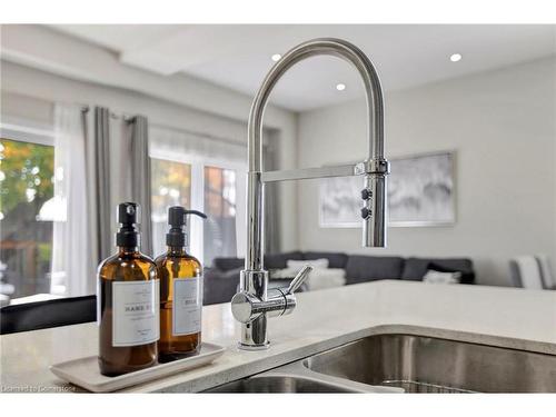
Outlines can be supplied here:
<path id="1" fill-rule="evenodd" d="M 79 106 L 54 108 L 54 217 L 51 292 L 95 292 L 89 276 L 86 196 L 86 119 Z"/>

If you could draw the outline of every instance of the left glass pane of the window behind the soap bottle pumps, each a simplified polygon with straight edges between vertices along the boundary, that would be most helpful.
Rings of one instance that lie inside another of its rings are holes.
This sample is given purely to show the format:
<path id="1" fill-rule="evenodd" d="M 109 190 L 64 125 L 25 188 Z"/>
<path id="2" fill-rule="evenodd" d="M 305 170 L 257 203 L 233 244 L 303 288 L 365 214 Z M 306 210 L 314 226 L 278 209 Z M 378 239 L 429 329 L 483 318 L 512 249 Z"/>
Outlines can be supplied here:
<path id="1" fill-rule="evenodd" d="M 151 219 L 155 256 L 166 250 L 168 207 L 191 208 L 191 165 L 151 158 Z"/>

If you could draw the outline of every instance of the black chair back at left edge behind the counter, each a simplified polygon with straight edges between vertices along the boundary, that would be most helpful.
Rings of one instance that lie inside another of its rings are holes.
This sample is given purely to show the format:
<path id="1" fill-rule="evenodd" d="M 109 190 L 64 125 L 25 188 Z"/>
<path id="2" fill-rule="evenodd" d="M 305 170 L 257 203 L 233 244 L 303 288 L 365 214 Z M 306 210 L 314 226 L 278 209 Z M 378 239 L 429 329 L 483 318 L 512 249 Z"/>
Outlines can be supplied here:
<path id="1" fill-rule="evenodd" d="M 2 307 L 1 334 L 78 325 L 97 319 L 97 296 L 59 298 Z"/>

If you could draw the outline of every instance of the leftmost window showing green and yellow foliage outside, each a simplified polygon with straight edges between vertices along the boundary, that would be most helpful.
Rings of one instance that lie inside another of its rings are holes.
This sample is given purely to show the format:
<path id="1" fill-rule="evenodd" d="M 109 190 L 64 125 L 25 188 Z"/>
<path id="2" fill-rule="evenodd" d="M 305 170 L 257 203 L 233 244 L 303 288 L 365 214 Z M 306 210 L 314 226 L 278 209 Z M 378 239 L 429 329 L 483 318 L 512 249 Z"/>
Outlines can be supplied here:
<path id="1" fill-rule="evenodd" d="M 0 141 L 0 288 L 26 297 L 50 292 L 54 148 Z"/>

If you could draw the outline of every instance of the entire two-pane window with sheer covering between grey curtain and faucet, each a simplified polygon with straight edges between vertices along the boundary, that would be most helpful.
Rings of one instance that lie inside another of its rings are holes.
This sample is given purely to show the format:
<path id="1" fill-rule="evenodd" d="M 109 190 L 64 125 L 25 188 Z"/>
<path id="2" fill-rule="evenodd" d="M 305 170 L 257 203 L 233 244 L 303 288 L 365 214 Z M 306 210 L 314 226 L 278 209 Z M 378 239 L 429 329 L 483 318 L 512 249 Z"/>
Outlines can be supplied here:
<path id="1" fill-rule="evenodd" d="M 186 130 L 149 129 L 153 255 L 166 251 L 168 207 L 181 205 L 208 216 L 188 221 L 188 251 L 202 265 L 245 256 L 246 146 Z M 170 192 L 180 199 L 172 200 Z"/>

